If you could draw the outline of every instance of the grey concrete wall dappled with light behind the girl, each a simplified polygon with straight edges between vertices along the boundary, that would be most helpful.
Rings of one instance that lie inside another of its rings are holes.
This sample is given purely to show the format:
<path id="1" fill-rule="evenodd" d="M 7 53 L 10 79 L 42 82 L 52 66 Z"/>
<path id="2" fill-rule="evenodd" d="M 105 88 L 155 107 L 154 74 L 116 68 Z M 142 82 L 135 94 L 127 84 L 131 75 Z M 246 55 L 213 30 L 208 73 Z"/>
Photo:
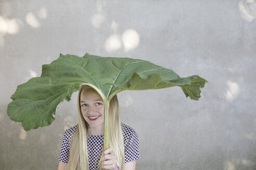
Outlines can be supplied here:
<path id="1" fill-rule="evenodd" d="M 198 74 L 180 88 L 119 93 L 139 135 L 137 169 L 256 169 L 256 1 L 0 1 L 0 169 L 57 169 L 76 93 L 52 125 L 25 132 L 7 114 L 18 84 L 59 53 L 123 56 Z"/>

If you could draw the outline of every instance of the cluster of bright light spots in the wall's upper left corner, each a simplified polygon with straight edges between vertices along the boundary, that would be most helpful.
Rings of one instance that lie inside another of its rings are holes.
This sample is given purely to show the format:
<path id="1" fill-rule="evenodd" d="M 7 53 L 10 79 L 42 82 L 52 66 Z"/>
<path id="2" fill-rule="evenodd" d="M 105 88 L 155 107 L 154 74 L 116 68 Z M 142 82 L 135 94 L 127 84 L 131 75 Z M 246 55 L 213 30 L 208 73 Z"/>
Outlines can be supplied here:
<path id="1" fill-rule="evenodd" d="M 0 47 L 3 47 L 5 44 L 5 35 L 18 34 L 25 24 L 37 29 L 41 27 L 40 19 L 42 20 L 47 18 L 47 10 L 44 7 L 36 13 L 28 12 L 25 15 L 25 22 L 19 18 L 9 18 L 12 10 L 10 3 L 4 2 L 0 8 L 0 11 L 2 11 L 0 13 Z"/>

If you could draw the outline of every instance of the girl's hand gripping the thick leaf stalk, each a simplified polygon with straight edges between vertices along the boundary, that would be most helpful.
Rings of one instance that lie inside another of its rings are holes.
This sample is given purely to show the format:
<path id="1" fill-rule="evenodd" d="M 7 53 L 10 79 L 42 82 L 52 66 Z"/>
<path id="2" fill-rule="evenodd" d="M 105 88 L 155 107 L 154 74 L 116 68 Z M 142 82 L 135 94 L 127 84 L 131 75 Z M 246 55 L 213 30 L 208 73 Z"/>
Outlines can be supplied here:
<path id="1" fill-rule="evenodd" d="M 103 152 L 102 165 L 105 169 L 117 170 L 117 156 L 111 148 Z"/>

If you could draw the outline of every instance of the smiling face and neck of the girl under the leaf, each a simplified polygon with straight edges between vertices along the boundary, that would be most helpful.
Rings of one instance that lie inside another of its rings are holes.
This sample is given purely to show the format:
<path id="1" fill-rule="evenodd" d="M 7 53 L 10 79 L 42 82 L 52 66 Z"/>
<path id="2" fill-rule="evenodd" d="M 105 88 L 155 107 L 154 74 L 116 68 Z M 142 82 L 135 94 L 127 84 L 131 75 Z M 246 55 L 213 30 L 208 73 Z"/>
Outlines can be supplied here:
<path id="1" fill-rule="evenodd" d="M 84 120 L 89 124 L 91 135 L 103 133 L 104 102 L 100 95 L 93 88 L 83 88 L 80 96 L 80 106 Z"/>

